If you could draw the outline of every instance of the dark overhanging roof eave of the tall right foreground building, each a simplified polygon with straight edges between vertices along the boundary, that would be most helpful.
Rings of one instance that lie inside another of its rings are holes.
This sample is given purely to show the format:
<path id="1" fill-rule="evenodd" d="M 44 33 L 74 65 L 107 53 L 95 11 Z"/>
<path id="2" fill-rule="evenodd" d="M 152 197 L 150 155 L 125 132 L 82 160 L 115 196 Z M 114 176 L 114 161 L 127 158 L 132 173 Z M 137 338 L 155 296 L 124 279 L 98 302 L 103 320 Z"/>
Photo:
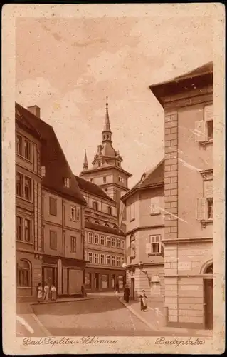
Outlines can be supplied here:
<path id="1" fill-rule="evenodd" d="M 149 89 L 156 96 L 162 106 L 165 98 L 176 94 L 183 94 L 195 89 L 204 89 L 213 85 L 213 62 L 208 62 L 193 71 L 181 76 L 177 76 L 170 81 L 164 81 L 158 84 L 152 84 Z"/>

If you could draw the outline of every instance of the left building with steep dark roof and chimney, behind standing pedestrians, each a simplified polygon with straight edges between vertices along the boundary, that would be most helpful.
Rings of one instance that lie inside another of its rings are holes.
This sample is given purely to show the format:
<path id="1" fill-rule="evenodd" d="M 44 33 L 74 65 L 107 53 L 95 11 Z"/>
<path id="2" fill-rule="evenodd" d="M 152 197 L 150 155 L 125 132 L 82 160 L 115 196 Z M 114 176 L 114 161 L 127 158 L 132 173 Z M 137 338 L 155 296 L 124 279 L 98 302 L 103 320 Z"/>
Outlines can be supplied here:
<path id="1" fill-rule="evenodd" d="M 40 109 L 32 106 L 27 110 L 17 105 L 17 110 L 41 136 L 42 193 L 37 203 L 42 209 L 40 282 L 55 284 L 58 296 L 75 295 L 80 293 L 85 273 L 86 201 L 53 127 L 40 119 Z"/>

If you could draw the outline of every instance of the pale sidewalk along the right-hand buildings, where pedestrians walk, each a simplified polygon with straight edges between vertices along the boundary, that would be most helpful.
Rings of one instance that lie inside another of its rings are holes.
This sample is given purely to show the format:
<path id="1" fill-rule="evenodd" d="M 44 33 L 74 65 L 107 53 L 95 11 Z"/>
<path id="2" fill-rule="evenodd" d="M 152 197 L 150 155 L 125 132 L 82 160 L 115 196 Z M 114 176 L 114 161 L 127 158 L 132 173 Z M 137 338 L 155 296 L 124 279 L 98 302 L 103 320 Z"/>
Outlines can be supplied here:
<path id="1" fill-rule="evenodd" d="M 177 335 L 177 333 L 184 333 L 186 336 L 204 336 L 204 337 L 212 337 L 213 331 L 211 330 L 196 330 L 189 328 L 175 328 L 175 327 L 167 327 L 164 326 L 165 318 L 164 318 L 164 303 L 159 301 L 147 301 L 148 309 L 147 311 L 141 311 L 140 302 L 139 301 L 130 301 L 129 303 L 125 303 L 123 298 L 119 298 L 119 300 L 132 312 L 137 318 L 143 321 L 151 330 L 160 331 L 161 333 L 165 332 L 173 332 Z"/>

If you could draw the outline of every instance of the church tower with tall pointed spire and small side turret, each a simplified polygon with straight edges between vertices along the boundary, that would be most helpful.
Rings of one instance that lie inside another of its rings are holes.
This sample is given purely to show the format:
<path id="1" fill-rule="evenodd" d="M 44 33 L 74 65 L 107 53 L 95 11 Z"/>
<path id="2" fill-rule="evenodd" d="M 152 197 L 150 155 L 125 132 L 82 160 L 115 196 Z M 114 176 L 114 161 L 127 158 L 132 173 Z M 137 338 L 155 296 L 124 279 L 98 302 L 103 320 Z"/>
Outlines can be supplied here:
<path id="1" fill-rule="evenodd" d="M 80 173 L 80 177 L 100 186 L 110 198 L 117 202 L 118 208 L 121 196 L 129 191 L 128 178 L 132 176 L 132 174 L 122 169 L 122 161 L 119 151 L 116 151 L 112 146 L 112 131 L 110 129 L 107 101 L 102 144 L 97 146 L 97 153 L 90 169 L 88 168 L 88 159 L 85 153 L 83 171 Z"/>

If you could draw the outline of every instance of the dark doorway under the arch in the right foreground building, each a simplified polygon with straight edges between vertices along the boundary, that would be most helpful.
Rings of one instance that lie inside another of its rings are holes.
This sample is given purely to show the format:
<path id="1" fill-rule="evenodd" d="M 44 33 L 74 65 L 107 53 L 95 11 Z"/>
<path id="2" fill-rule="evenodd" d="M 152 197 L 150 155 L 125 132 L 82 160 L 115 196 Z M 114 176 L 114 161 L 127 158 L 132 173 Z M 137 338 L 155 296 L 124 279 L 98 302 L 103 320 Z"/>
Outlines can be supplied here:
<path id="1" fill-rule="evenodd" d="M 205 328 L 213 328 L 213 279 L 204 279 L 204 318 Z"/>

